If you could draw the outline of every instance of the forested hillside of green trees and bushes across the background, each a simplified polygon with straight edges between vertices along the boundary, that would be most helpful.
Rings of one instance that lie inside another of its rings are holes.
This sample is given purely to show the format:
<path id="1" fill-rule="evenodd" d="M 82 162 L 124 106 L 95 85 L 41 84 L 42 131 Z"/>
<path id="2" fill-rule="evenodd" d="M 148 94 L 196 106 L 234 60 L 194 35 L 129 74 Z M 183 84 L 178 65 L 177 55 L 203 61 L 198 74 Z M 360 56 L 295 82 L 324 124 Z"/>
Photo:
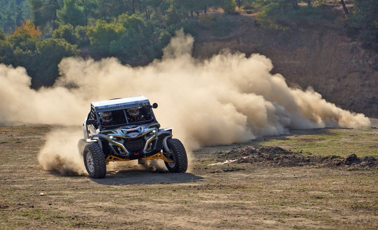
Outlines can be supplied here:
<path id="1" fill-rule="evenodd" d="M 64 57 L 117 57 L 144 65 L 161 57 L 180 28 L 193 36 L 208 31 L 227 37 L 234 24 L 223 14 L 251 15 L 256 26 L 282 37 L 298 26 L 332 23 L 365 48 L 378 47 L 376 0 L 0 0 L 0 5 L 0 63 L 25 67 L 33 88 L 52 85 Z"/>

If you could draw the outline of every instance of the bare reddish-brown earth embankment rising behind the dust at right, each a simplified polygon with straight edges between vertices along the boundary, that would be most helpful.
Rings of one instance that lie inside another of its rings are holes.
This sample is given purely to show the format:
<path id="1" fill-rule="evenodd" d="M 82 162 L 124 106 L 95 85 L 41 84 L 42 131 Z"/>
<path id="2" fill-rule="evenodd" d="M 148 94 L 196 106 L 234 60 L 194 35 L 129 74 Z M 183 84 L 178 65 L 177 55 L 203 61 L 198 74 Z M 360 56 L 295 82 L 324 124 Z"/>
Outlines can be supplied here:
<path id="1" fill-rule="evenodd" d="M 210 57 L 224 48 L 269 57 L 273 72 L 291 86 L 311 86 L 336 105 L 371 117 L 378 116 L 378 52 L 361 47 L 333 24 L 303 26 L 279 33 L 263 29 L 246 15 L 231 17 L 234 29 L 225 37 L 203 30 L 195 38 L 193 55 Z"/>

